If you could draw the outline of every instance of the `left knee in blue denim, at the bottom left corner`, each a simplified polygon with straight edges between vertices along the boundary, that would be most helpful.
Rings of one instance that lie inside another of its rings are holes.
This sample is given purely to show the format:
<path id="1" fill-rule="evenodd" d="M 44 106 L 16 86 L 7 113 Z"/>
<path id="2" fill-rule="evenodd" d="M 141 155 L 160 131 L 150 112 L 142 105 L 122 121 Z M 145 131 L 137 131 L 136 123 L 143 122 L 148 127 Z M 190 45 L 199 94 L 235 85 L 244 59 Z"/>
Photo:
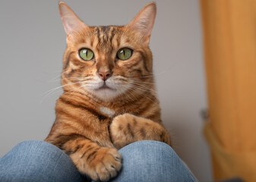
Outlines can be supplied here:
<path id="1" fill-rule="evenodd" d="M 43 141 L 19 143 L 1 158 L 1 162 L 5 166 L 5 177 L 13 176 L 14 180 L 10 181 L 72 181 L 68 179 L 80 178 L 71 158 Z"/>

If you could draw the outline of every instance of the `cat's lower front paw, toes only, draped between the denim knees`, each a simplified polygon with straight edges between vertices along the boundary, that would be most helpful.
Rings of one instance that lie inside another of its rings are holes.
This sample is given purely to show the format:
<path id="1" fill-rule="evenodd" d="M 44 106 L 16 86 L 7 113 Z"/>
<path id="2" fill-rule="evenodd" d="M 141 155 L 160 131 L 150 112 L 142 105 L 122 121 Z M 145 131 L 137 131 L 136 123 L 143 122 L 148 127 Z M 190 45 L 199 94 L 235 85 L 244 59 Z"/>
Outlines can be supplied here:
<path id="1" fill-rule="evenodd" d="M 122 167 L 122 156 L 116 149 L 101 148 L 95 156 L 89 158 L 89 171 L 87 173 L 93 180 L 106 181 L 115 177 Z"/>

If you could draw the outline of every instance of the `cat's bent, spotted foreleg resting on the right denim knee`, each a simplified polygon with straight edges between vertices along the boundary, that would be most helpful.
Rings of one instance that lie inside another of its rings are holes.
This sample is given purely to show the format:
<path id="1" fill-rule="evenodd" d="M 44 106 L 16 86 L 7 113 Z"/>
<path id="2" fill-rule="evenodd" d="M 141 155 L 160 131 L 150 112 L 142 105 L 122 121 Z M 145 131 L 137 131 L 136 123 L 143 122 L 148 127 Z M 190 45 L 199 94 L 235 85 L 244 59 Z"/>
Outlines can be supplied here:
<path id="1" fill-rule="evenodd" d="M 139 140 L 156 140 L 171 144 L 166 129 L 147 118 L 130 114 L 119 115 L 113 119 L 109 129 L 112 143 L 117 149 Z"/>

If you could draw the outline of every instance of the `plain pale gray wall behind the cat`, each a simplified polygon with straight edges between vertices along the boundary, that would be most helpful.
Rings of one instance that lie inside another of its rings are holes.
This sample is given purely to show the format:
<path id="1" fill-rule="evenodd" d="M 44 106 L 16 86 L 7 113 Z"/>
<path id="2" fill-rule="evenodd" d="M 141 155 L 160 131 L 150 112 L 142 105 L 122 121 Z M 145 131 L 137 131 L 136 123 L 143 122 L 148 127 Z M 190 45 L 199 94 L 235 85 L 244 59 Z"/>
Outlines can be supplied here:
<path id="1" fill-rule="evenodd" d="M 128 24 L 147 0 L 65 1 L 89 25 Z M 200 6 L 196 0 L 156 1 L 151 36 L 163 121 L 175 151 L 201 181 L 210 181 L 202 136 L 206 107 Z M 55 119 L 65 32 L 52 0 L 0 0 L 0 156 L 23 140 L 43 140 Z M 46 96 L 46 97 L 44 97 Z"/>

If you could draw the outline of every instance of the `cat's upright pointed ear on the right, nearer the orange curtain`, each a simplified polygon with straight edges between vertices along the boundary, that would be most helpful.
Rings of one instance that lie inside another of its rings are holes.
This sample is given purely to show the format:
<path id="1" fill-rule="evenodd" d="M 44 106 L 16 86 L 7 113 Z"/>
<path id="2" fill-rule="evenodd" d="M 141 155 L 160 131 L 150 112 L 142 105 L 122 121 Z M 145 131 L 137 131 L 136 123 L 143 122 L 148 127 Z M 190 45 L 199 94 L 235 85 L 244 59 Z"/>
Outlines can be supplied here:
<path id="1" fill-rule="evenodd" d="M 150 2 L 134 17 L 131 22 L 126 25 L 131 30 L 137 31 L 141 34 L 143 41 L 146 44 L 150 42 L 151 31 L 153 23 L 156 18 L 156 3 Z"/>

